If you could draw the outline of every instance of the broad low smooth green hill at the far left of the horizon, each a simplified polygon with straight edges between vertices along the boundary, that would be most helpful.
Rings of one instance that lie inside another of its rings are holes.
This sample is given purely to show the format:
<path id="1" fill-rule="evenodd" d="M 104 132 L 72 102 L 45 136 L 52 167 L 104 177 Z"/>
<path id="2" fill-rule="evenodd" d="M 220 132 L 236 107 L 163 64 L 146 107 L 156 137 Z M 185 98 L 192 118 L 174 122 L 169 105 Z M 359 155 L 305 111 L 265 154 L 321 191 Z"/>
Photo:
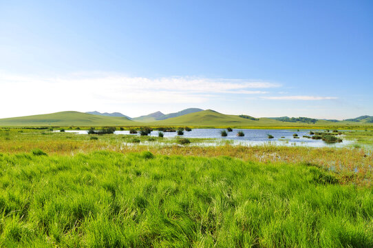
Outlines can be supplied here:
<path id="1" fill-rule="evenodd" d="M 99 116 L 76 111 L 0 119 L 0 126 L 104 126 L 138 125 L 125 117 Z"/>

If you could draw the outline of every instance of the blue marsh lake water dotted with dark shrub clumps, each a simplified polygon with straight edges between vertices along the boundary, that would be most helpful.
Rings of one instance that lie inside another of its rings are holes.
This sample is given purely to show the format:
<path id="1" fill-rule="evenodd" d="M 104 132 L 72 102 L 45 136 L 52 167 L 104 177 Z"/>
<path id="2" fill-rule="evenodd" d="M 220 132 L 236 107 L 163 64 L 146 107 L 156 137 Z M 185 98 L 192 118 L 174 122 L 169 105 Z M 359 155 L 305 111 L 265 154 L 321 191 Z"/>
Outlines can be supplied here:
<path id="1" fill-rule="evenodd" d="M 248 130 L 248 129 L 233 129 L 233 132 L 227 132 L 227 136 L 222 137 L 220 132 L 223 129 L 193 129 L 190 132 L 184 131 L 182 137 L 185 138 L 215 138 L 215 143 L 224 143 L 228 141 L 232 145 L 301 145 L 308 147 L 342 147 L 353 143 L 353 141 L 345 141 L 343 143 L 328 144 L 321 140 L 314 140 L 311 138 L 304 138 L 303 136 L 310 136 L 310 130 Z M 237 132 L 244 132 L 245 136 L 237 136 Z M 72 132 L 76 134 L 87 134 L 87 130 L 66 130 L 65 132 Z M 315 132 L 315 130 L 314 130 Z M 129 131 L 116 131 L 114 134 L 129 134 Z M 268 138 L 268 134 L 274 138 Z M 299 138 L 294 138 L 293 134 L 297 134 Z M 138 136 L 140 134 L 130 134 Z M 150 136 L 158 136 L 158 131 L 152 131 Z M 164 132 L 165 138 L 178 136 L 176 132 Z M 343 138 L 343 135 L 342 135 Z M 213 144 L 211 141 L 204 143 Z M 201 145 L 206 145 L 201 143 Z"/>

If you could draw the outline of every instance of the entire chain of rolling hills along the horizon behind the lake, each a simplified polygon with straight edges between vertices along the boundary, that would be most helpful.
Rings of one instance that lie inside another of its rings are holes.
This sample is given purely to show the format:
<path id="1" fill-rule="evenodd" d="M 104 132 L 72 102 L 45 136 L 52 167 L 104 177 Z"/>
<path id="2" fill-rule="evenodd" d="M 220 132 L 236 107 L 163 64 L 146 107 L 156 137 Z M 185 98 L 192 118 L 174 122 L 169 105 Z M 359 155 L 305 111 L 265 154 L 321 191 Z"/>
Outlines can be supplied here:
<path id="1" fill-rule="evenodd" d="M 163 120 L 156 120 L 156 118 L 164 118 L 167 116 L 162 112 L 155 112 L 143 116 L 142 120 L 148 121 L 134 121 L 126 117 L 113 117 L 95 114 L 87 114 L 75 111 L 57 112 L 52 114 L 39 114 L 34 116 L 22 116 L 14 118 L 0 119 L 0 127 L 69 127 L 69 126 L 122 126 L 122 127 L 139 127 L 139 126 L 191 126 L 191 127 L 353 127 L 353 126 L 372 126 L 372 116 L 361 116 L 355 119 L 348 119 L 345 121 L 333 122 L 327 120 L 317 120 L 315 123 L 310 122 L 309 118 L 285 118 L 282 120 L 274 118 L 253 118 L 247 115 L 231 115 L 222 114 L 214 110 L 187 109 L 173 114 L 182 114 Z M 185 112 L 191 111 L 189 114 Z M 193 112 L 196 111 L 196 112 Z M 104 113 L 105 114 L 105 113 Z M 169 114 L 168 116 L 170 116 Z M 173 116 L 173 115 L 171 115 Z M 291 122 L 289 122 L 289 120 Z M 281 121 L 280 121 L 281 120 Z M 313 119 L 311 119 L 313 120 Z M 293 122 L 296 121 L 296 122 Z M 304 122 L 302 122 L 304 121 Z"/>

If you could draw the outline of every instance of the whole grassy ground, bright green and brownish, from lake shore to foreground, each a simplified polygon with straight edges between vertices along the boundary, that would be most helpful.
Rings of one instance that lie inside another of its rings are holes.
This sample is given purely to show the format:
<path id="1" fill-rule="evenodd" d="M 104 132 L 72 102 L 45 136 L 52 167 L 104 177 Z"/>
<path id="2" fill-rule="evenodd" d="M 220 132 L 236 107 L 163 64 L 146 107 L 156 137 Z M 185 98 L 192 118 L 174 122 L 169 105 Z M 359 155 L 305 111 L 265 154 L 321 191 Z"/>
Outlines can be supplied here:
<path id="1" fill-rule="evenodd" d="M 343 137 L 356 143 L 3 128 L 0 246 L 371 247 L 373 132 Z"/>

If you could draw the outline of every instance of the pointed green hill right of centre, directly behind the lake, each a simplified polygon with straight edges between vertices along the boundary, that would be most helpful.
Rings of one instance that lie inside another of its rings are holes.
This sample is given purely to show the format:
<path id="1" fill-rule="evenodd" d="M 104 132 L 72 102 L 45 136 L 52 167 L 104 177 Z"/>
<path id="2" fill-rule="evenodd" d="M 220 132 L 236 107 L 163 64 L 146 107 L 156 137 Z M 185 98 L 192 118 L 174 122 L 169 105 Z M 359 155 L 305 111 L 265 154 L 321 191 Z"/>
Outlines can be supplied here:
<path id="1" fill-rule="evenodd" d="M 149 123 L 149 125 L 190 125 L 190 126 L 241 126 L 258 127 L 265 125 L 281 125 L 281 122 L 269 118 L 259 118 L 259 121 L 253 121 L 248 118 L 242 118 L 236 115 L 221 114 L 214 110 L 204 110 L 183 116 L 169 118 L 162 121 Z"/>

